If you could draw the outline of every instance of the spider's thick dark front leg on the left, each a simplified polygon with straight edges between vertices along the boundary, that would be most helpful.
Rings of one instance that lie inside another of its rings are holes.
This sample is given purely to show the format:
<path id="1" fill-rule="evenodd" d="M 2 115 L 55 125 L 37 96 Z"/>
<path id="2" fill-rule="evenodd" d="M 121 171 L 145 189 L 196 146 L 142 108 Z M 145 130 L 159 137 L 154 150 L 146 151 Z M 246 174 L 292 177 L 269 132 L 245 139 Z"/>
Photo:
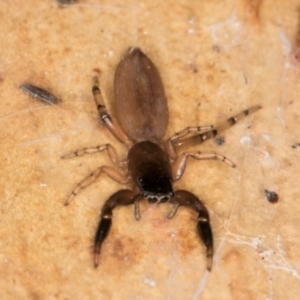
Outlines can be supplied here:
<path id="1" fill-rule="evenodd" d="M 94 243 L 94 266 L 99 264 L 101 245 L 107 237 L 112 224 L 112 210 L 119 205 L 130 205 L 134 203 L 134 193 L 131 190 L 120 190 L 110 196 L 101 209 L 101 218 L 95 236 Z"/>

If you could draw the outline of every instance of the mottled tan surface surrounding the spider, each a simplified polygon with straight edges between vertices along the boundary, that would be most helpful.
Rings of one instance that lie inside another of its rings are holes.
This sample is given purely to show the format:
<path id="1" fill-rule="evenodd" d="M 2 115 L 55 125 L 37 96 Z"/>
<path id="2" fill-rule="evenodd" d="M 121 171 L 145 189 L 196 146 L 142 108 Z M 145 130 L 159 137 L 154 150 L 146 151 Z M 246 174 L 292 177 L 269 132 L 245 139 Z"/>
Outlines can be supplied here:
<path id="1" fill-rule="evenodd" d="M 296 299 L 300 294 L 299 1 L 0 2 L 0 298 Z M 104 176 L 63 203 L 102 164 L 99 153 L 61 160 L 85 146 L 116 145 L 98 124 L 93 69 L 111 108 L 115 66 L 139 46 L 161 72 L 167 136 L 210 125 L 254 104 L 263 109 L 214 141 L 237 165 L 190 161 L 176 188 L 206 203 L 215 241 L 212 272 L 196 216 L 169 205 L 116 209 L 100 266 L 92 244 L 101 205 L 121 186 Z M 62 98 L 46 106 L 23 82 Z M 279 194 L 267 202 L 264 189 Z"/>

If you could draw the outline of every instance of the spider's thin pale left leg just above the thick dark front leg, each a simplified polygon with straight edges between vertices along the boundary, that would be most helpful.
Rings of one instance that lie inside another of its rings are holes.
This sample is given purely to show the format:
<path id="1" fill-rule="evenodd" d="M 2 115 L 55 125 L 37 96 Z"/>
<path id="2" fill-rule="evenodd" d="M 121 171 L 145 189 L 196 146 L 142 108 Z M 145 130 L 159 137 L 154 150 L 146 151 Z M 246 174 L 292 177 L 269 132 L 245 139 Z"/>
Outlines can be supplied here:
<path id="1" fill-rule="evenodd" d="M 121 184 L 127 184 L 128 182 L 131 181 L 130 176 L 128 175 L 124 176 L 122 173 L 120 173 L 118 170 L 112 167 L 108 167 L 108 166 L 99 167 L 96 170 L 94 170 L 89 176 L 87 176 L 84 180 L 82 180 L 77 184 L 77 187 L 73 190 L 71 196 L 69 197 L 65 205 L 69 205 L 80 190 L 94 183 L 96 179 L 101 175 L 101 173 L 105 173 L 108 177 Z"/>

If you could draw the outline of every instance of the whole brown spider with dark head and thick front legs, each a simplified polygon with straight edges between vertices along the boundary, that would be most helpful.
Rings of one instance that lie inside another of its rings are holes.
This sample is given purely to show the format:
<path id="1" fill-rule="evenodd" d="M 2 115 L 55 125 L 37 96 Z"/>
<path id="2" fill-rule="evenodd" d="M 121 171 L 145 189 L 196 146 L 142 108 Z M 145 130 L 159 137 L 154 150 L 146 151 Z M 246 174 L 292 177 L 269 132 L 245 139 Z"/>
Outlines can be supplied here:
<path id="1" fill-rule="evenodd" d="M 127 159 L 121 161 L 110 144 L 77 150 L 63 158 L 106 150 L 115 166 L 125 164 L 128 172 L 123 174 L 117 168 L 110 166 L 98 167 L 77 185 L 66 205 L 80 190 L 95 182 L 102 173 L 121 184 L 130 184 L 132 187 L 121 189 L 111 195 L 101 209 L 94 243 L 95 267 L 98 266 L 101 245 L 111 228 L 113 209 L 120 205 L 133 204 L 135 218 L 139 220 L 139 202 L 147 199 L 149 203 L 172 203 L 173 209 L 168 214 L 168 219 L 174 217 L 180 206 L 196 211 L 198 214 L 197 232 L 206 246 L 207 269 L 211 270 L 213 235 L 208 211 L 202 201 L 191 192 L 174 191 L 173 182 L 182 177 L 188 158 L 216 159 L 231 167 L 235 165 L 225 156 L 216 153 L 192 151 L 178 155 L 177 150 L 181 146 L 197 145 L 215 137 L 221 130 L 260 109 L 260 106 L 242 111 L 217 128 L 214 126 L 187 127 L 169 139 L 163 140 L 169 119 L 163 83 L 156 66 L 139 48 L 128 49 L 115 72 L 116 120 L 111 118 L 105 108 L 97 76 L 94 77 L 93 95 L 100 123 L 127 147 Z"/>

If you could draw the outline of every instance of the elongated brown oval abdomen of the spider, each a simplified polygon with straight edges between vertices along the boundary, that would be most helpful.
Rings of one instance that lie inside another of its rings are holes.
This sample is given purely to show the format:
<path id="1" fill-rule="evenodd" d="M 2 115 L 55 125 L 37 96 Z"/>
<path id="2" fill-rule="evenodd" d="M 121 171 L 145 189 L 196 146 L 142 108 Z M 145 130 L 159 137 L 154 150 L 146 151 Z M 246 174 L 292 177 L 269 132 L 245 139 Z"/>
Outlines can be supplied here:
<path id="1" fill-rule="evenodd" d="M 138 48 L 128 51 L 115 73 L 115 109 L 134 142 L 159 142 L 169 121 L 164 87 L 157 68 Z"/>

